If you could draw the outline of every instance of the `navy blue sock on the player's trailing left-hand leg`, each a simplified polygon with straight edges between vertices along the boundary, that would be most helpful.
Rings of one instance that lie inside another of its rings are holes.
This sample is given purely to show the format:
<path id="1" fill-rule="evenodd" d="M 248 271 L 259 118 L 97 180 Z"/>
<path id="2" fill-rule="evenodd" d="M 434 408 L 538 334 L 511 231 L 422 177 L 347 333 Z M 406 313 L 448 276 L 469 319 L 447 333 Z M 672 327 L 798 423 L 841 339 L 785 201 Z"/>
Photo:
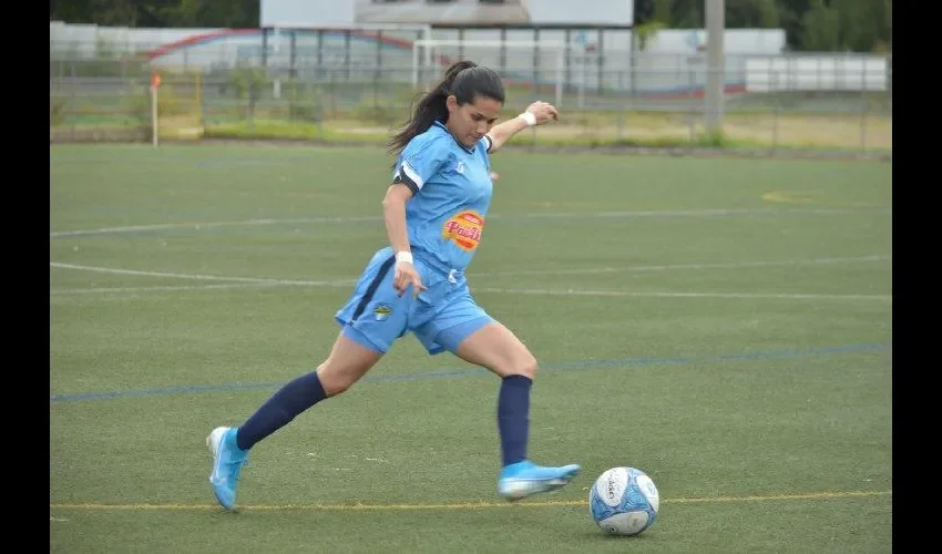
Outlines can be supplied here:
<path id="1" fill-rule="evenodd" d="M 256 442 L 287 425 L 297 414 L 327 398 L 316 371 L 281 387 L 265 401 L 236 433 L 236 444 L 248 450 Z"/>

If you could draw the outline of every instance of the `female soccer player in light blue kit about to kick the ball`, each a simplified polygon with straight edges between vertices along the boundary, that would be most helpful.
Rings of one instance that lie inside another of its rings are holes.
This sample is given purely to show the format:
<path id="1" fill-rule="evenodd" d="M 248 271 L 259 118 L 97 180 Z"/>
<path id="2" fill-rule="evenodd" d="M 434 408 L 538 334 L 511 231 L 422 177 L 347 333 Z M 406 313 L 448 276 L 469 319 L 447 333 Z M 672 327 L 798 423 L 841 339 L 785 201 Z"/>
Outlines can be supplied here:
<path id="1" fill-rule="evenodd" d="M 536 360 L 474 302 L 464 279 L 491 203 L 489 154 L 518 132 L 557 116 L 551 104 L 534 102 L 494 125 L 503 101 L 496 73 L 458 62 L 392 137 L 391 152 L 398 156 L 382 201 L 391 246 L 373 255 L 337 311 L 340 335 L 317 370 L 285 384 L 243 424 L 217 427 L 206 438 L 213 455 L 209 482 L 223 507 L 235 507 L 252 447 L 317 402 L 349 389 L 407 331 L 431 355 L 449 350 L 501 378 L 501 496 L 518 500 L 551 491 L 578 473 L 577 464 L 541 466 L 526 458 Z"/>

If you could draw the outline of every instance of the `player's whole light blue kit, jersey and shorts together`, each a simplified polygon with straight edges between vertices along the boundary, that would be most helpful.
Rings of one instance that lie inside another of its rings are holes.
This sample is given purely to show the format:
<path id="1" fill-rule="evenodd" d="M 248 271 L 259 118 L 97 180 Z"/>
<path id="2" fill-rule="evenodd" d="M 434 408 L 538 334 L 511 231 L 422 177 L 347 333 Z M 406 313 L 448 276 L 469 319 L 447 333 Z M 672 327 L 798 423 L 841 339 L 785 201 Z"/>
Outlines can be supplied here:
<path id="1" fill-rule="evenodd" d="M 411 289 L 399 296 L 392 286 L 392 248 L 380 248 L 335 315 L 345 337 L 383 353 L 411 331 L 429 353 L 453 352 L 493 321 L 474 302 L 463 273 L 481 244 L 493 193 L 490 144 L 484 137 L 465 148 L 434 123 L 403 148 L 392 181 L 413 193 L 406 204 L 406 227 L 426 290 L 416 298 Z"/>

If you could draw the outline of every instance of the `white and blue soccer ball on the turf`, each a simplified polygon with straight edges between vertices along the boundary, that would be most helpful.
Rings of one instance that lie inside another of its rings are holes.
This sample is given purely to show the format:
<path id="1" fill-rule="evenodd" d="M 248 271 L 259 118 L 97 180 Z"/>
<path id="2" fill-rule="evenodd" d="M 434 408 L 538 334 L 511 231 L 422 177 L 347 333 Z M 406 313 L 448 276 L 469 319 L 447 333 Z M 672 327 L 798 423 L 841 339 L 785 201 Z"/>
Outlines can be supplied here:
<path id="1" fill-rule="evenodd" d="M 612 468 L 588 491 L 588 510 L 603 531 L 637 535 L 654 524 L 661 497 L 654 481 L 635 468 Z"/>

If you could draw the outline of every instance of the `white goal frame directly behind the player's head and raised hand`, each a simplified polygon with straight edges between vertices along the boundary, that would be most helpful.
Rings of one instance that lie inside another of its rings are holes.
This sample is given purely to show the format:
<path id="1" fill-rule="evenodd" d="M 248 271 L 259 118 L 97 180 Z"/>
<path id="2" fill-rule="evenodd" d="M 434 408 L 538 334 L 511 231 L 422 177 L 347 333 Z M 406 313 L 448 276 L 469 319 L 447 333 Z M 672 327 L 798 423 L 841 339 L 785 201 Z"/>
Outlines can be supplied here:
<path id="1" fill-rule="evenodd" d="M 561 106 L 563 103 L 563 83 L 565 81 L 565 58 L 566 52 L 570 50 L 570 47 L 562 42 L 545 42 L 545 41 L 501 41 L 501 40 L 455 40 L 455 39 L 420 39 L 412 42 L 412 88 L 418 90 L 422 85 L 421 75 L 424 73 L 424 70 L 434 69 L 436 73 L 440 73 L 438 71 L 440 69 L 438 63 L 438 57 L 443 55 L 439 53 L 437 50 L 442 48 L 452 49 L 458 47 L 462 49 L 494 49 L 499 51 L 500 49 L 523 49 L 526 50 L 531 55 L 535 52 L 540 52 L 541 54 L 547 53 L 553 58 L 553 85 L 555 88 L 555 105 Z M 420 55 L 420 50 L 421 55 Z M 505 52 L 506 50 L 504 50 Z M 454 61 L 459 61 L 455 59 Z"/>

